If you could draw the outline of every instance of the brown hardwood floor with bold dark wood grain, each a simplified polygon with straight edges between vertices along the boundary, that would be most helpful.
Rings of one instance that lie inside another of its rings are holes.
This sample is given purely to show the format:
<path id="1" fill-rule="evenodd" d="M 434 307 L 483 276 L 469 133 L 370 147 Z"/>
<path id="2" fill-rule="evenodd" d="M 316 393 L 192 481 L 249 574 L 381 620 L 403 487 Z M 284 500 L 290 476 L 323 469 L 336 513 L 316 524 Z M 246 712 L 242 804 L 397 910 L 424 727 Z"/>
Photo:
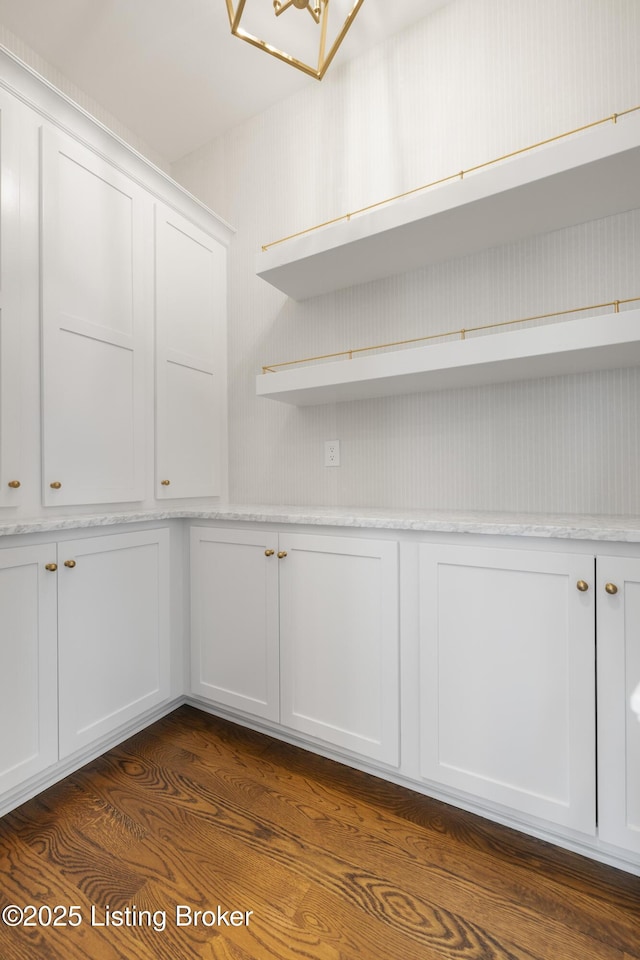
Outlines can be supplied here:
<path id="1" fill-rule="evenodd" d="M 189 707 L 6 816 L 0 858 L 0 909 L 44 908 L 0 960 L 640 958 L 639 878 Z"/>

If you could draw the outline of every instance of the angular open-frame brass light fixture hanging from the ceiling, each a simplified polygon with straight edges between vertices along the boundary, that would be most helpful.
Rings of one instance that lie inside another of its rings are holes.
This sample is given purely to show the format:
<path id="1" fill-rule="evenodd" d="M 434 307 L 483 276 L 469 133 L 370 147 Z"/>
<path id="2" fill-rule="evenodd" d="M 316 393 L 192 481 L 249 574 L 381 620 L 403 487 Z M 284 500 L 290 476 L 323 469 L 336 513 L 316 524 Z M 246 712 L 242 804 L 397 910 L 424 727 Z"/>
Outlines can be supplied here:
<path id="1" fill-rule="evenodd" d="M 363 3 L 364 0 L 227 0 L 227 13 L 234 37 L 322 80 Z M 303 16 L 305 13 L 309 16 Z M 260 39 L 267 36 L 272 40 Z"/>

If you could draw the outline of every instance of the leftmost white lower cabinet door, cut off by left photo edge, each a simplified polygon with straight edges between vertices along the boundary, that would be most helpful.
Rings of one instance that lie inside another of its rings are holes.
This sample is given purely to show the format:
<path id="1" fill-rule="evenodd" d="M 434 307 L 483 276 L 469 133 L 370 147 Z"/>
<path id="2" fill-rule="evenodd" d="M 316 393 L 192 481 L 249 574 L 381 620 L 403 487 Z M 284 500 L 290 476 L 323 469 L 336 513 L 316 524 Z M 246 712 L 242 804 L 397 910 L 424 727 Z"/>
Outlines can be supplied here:
<path id="1" fill-rule="evenodd" d="M 0 792 L 58 759 L 55 546 L 0 550 Z"/>

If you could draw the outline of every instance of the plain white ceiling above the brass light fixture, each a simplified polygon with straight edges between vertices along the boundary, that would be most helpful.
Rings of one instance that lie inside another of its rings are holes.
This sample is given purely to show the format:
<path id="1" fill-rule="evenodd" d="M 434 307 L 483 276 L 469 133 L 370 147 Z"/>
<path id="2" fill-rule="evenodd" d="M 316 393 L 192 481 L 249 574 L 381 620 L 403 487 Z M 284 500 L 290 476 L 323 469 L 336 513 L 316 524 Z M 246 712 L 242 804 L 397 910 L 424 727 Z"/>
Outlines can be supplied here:
<path id="1" fill-rule="evenodd" d="M 445 2 L 364 0 L 329 76 Z M 318 82 L 232 37 L 225 0 L 0 0 L 0 24 L 169 162 Z"/>

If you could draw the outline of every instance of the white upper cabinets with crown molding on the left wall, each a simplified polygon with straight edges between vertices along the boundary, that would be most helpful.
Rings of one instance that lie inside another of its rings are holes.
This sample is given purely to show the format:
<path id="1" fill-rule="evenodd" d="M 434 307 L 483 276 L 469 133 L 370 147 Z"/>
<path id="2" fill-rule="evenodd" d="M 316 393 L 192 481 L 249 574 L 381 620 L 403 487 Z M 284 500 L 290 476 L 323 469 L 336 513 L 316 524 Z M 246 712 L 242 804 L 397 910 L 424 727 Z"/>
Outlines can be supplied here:
<path id="1" fill-rule="evenodd" d="M 0 50 L 0 508 L 226 493 L 232 233 Z"/>

